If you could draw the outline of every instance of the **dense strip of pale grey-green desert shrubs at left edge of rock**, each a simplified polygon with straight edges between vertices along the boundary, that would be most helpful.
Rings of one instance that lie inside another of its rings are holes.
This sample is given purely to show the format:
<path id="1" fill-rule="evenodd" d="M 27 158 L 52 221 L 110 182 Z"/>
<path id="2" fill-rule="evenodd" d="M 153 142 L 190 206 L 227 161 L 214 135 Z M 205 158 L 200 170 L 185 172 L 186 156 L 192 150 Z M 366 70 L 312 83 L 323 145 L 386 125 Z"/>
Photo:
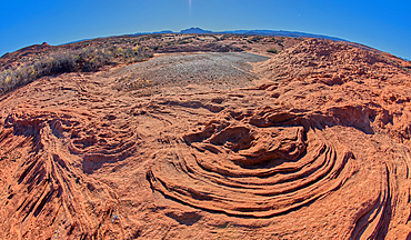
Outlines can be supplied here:
<path id="1" fill-rule="evenodd" d="M 39 57 L 23 66 L 0 72 L 0 94 L 24 86 L 44 76 L 64 72 L 90 72 L 103 66 L 144 61 L 152 57 L 149 49 L 138 46 L 84 47 L 78 50 L 59 50 Z"/>

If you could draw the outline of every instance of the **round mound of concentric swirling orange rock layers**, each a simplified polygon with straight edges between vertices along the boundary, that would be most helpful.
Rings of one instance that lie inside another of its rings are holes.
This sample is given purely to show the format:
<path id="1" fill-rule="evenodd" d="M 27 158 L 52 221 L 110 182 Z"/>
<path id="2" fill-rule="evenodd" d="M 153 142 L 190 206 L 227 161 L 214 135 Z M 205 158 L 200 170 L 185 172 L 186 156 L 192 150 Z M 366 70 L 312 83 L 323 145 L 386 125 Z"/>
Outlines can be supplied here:
<path id="1" fill-rule="evenodd" d="M 319 130 L 293 126 L 301 117 L 269 111 L 263 128 L 254 116 L 237 118 L 211 121 L 183 136 L 187 147 L 157 153 L 148 173 L 153 188 L 202 209 L 259 218 L 309 204 L 353 173 L 352 153 Z"/>

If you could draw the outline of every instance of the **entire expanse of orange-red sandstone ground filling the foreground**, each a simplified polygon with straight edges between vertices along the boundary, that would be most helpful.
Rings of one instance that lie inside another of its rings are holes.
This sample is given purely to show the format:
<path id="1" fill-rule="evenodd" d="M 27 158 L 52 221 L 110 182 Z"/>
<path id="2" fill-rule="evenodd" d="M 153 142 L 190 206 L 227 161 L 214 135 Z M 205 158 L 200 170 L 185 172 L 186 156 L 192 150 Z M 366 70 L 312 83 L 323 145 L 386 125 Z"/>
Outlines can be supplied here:
<path id="1" fill-rule="evenodd" d="M 314 39 L 178 58 L 1 97 L 1 239 L 411 237 L 408 62 Z"/>

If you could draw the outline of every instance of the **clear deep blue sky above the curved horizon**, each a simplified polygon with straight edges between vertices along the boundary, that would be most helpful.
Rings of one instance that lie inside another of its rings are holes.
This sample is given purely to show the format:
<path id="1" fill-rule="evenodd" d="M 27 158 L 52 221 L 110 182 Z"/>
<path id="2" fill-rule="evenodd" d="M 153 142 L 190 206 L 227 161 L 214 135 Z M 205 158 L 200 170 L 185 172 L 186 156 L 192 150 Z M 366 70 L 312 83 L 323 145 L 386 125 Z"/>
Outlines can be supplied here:
<path id="1" fill-rule="evenodd" d="M 190 3 L 191 2 L 191 3 Z M 41 43 L 180 31 L 289 30 L 411 60 L 411 0 L 0 0 L 0 56 Z"/>

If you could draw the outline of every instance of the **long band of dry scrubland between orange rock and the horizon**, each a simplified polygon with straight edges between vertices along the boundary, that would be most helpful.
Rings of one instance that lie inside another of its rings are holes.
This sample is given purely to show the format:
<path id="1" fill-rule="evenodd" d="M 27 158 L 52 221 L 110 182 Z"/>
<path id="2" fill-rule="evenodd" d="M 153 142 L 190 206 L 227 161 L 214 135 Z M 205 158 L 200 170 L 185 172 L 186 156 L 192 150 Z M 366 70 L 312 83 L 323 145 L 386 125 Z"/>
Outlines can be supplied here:
<path id="1" fill-rule="evenodd" d="M 0 94 L 44 76 L 97 71 L 104 66 L 150 59 L 153 53 L 268 51 L 277 53 L 301 39 L 240 34 L 146 34 L 23 48 L 0 58 Z"/>

